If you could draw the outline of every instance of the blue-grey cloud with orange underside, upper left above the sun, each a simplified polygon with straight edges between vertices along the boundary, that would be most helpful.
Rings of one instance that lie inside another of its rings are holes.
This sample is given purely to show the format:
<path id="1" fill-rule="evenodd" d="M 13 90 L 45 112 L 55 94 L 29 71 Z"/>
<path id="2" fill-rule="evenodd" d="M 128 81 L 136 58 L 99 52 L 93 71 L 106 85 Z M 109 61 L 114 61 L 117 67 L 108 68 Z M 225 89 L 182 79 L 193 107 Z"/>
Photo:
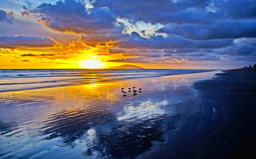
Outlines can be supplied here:
<path id="1" fill-rule="evenodd" d="M 93 7 L 95 1 L 58 1 L 42 3 L 23 14 L 35 16 L 39 23 L 53 31 L 80 35 L 87 45 L 117 41 L 123 38 L 121 28 L 115 26 L 116 18 L 108 7 Z"/>

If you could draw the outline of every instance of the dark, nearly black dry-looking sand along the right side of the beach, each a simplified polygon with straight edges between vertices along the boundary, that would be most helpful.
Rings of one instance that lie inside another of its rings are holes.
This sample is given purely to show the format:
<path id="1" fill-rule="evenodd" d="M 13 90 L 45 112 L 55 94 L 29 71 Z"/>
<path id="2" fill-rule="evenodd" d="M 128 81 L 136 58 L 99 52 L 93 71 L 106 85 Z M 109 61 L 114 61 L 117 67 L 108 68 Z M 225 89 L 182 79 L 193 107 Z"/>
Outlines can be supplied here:
<path id="1" fill-rule="evenodd" d="M 193 87 L 199 110 L 137 158 L 255 158 L 256 71 L 224 71 Z"/>

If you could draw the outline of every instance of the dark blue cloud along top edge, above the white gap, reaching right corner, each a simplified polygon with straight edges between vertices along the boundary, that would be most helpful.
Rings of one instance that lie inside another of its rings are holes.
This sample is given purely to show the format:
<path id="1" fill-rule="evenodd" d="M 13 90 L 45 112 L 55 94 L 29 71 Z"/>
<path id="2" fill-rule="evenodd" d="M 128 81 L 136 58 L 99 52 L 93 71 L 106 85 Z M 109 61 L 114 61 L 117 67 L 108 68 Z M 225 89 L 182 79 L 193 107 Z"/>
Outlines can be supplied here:
<path id="1" fill-rule="evenodd" d="M 216 19 L 248 19 L 256 17 L 254 0 L 98 0 L 95 6 L 108 6 L 121 18 L 151 23 L 214 23 Z"/>

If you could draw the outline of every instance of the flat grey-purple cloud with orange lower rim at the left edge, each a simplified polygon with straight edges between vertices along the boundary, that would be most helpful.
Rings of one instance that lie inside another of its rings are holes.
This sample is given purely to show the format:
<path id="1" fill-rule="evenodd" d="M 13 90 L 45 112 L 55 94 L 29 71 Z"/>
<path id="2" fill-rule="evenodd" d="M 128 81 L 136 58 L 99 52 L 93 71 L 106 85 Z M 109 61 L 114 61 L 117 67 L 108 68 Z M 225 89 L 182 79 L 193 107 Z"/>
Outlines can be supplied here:
<path id="1" fill-rule="evenodd" d="M 47 47 L 53 46 L 55 41 L 49 37 L 39 36 L 0 36 L 0 48 L 17 48 L 19 46 Z"/>

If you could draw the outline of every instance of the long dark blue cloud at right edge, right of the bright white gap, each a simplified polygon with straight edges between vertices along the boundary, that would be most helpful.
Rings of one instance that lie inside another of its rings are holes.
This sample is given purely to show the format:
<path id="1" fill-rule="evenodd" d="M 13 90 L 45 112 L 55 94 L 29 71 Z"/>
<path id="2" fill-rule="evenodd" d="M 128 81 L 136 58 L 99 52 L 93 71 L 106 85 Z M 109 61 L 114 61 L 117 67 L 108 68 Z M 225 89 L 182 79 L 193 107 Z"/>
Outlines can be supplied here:
<path id="1" fill-rule="evenodd" d="M 193 40 L 256 37 L 256 20 L 225 20 L 214 25 L 168 25 L 160 32 Z"/>

